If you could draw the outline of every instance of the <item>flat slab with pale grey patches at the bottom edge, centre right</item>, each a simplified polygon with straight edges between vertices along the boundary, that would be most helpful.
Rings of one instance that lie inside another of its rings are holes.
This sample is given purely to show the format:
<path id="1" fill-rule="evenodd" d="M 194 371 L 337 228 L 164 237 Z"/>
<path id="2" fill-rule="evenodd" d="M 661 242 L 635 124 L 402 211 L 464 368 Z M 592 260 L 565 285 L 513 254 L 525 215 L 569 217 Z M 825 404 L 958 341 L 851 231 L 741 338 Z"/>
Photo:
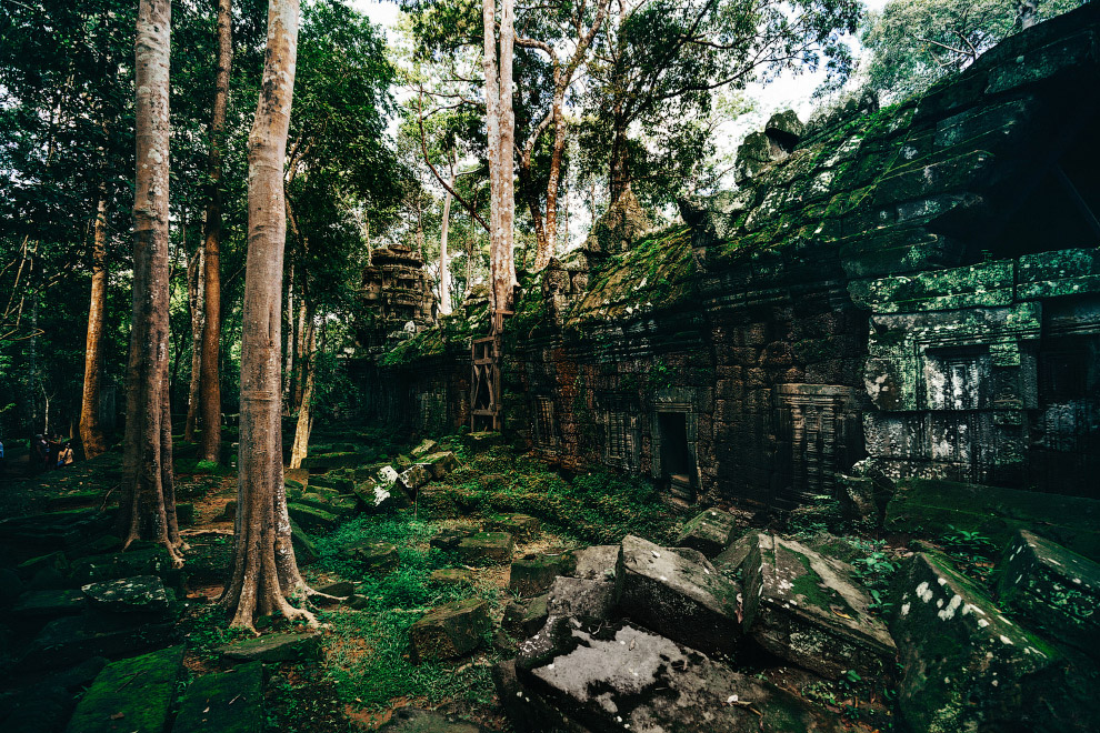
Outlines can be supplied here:
<path id="1" fill-rule="evenodd" d="M 622 625 L 613 636 L 570 633 L 570 651 L 530 672 L 520 667 L 518 681 L 522 696 L 541 697 L 587 730 L 843 730 L 790 693 L 637 626 Z"/>

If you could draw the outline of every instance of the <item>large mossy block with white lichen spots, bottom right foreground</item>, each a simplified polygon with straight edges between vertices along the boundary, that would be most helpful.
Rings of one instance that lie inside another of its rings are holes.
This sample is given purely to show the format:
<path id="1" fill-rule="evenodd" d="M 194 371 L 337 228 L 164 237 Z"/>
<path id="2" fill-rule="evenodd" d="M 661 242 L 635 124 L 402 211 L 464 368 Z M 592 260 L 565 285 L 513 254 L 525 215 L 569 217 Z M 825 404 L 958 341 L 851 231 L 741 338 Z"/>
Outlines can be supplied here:
<path id="1" fill-rule="evenodd" d="M 912 730 L 1010 730 L 1047 704 L 1056 652 L 1001 615 L 944 558 L 916 554 L 897 589 L 898 706 Z"/>

